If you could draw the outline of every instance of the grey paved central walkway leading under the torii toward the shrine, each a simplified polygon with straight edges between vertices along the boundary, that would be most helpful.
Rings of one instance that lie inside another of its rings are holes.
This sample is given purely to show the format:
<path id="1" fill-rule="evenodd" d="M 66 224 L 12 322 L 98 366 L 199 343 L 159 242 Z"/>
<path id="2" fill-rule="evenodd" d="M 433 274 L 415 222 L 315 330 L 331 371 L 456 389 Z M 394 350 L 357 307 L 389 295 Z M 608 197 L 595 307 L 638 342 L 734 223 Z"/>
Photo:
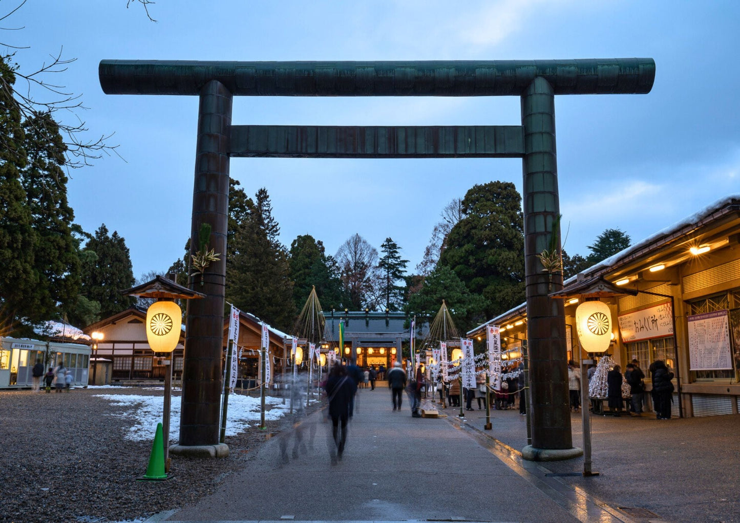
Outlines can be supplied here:
<path id="1" fill-rule="evenodd" d="M 337 465 L 331 423 L 303 419 L 169 521 L 638 521 L 457 419 L 412 418 L 404 401 L 393 412 L 387 388 L 360 390 Z"/>

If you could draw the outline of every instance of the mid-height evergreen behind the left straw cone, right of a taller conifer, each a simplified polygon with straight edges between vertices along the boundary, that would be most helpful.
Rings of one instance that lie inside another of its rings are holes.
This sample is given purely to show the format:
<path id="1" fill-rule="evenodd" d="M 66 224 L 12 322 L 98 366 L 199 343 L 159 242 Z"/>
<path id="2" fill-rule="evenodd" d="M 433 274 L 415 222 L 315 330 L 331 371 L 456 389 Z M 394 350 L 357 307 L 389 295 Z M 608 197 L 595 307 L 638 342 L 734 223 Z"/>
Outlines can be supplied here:
<path id="1" fill-rule="evenodd" d="M 349 305 L 337 262 L 326 255 L 321 240 L 315 240 L 310 234 L 298 236 L 290 244 L 290 279 L 294 283 L 293 300 L 299 311 L 314 286 L 321 306 L 344 308 L 345 304 Z"/>

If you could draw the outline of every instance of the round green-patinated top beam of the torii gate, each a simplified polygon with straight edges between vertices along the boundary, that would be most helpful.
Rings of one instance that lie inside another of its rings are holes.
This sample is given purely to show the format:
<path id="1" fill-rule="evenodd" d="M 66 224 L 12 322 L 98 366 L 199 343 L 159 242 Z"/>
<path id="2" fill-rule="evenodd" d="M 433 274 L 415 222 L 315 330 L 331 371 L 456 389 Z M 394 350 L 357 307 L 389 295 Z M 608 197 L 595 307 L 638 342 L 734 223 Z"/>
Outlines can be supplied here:
<path id="1" fill-rule="evenodd" d="M 211 80 L 243 96 L 521 95 L 542 77 L 556 95 L 645 94 L 652 58 L 465 61 L 103 60 L 113 95 L 199 95 Z"/>

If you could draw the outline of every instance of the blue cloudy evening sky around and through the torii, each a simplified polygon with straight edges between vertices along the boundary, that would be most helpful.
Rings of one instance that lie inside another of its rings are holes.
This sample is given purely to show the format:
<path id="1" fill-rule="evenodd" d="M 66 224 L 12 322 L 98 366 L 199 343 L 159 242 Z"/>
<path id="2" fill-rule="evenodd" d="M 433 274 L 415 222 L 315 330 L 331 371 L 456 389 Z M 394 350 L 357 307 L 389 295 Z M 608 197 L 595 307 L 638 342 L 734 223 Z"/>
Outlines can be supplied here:
<path id="1" fill-rule="evenodd" d="M 4 12 L 19 2 L 3 1 Z M 740 192 L 740 3 L 736 1 L 158 0 L 149 21 L 126 0 L 28 0 L 3 21 L 4 44 L 37 67 L 77 58 L 51 81 L 81 93 L 90 137 L 113 156 L 72 172 L 75 221 L 105 223 L 134 273 L 165 271 L 190 230 L 198 99 L 104 95 L 101 59 L 656 61 L 648 95 L 560 96 L 556 132 L 565 249 L 588 254 L 607 228 L 633 242 Z M 63 115 L 63 113 L 58 113 Z M 70 118 L 73 115 L 65 115 Z M 519 98 L 235 98 L 235 124 L 518 125 Z M 298 234 L 334 254 L 351 234 L 392 237 L 421 260 L 440 211 L 476 183 L 511 181 L 521 161 L 234 158 L 249 195 L 265 186 L 287 246 Z"/>

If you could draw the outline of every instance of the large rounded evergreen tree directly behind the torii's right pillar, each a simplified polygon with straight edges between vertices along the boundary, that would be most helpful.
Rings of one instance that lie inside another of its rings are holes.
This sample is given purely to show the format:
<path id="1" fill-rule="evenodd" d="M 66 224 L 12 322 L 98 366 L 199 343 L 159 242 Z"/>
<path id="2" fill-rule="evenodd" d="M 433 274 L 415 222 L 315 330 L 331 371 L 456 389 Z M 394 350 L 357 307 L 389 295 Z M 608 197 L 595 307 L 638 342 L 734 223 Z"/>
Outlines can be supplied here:
<path id="1" fill-rule="evenodd" d="M 465 217 L 452 228 L 440 264 L 473 294 L 488 300 L 493 317 L 525 300 L 522 197 L 514 183 L 476 185 L 462 200 Z"/>

